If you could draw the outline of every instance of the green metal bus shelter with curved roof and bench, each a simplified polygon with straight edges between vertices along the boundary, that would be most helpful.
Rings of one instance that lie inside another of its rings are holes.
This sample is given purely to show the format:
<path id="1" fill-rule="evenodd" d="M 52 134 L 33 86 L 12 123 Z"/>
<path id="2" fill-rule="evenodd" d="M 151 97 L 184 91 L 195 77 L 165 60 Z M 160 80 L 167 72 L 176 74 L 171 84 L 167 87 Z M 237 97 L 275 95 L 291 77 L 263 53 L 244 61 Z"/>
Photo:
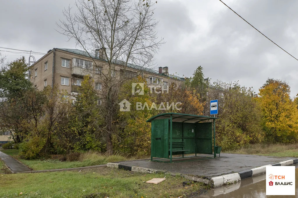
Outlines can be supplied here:
<path id="1" fill-rule="evenodd" d="M 163 162 L 172 163 L 172 156 L 181 154 L 182 158 L 184 154 L 213 154 L 215 158 L 216 153 L 220 152 L 220 149 L 215 147 L 215 119 L 218 118 L 183 113 L 162 113 L 153 116 L 147 120 L 151 122 L 151 161 L 166 159 Z M 204 120 L 213 122 L 201 122 Z M 219 152 L 216 152 L 217 150 Z"/>

